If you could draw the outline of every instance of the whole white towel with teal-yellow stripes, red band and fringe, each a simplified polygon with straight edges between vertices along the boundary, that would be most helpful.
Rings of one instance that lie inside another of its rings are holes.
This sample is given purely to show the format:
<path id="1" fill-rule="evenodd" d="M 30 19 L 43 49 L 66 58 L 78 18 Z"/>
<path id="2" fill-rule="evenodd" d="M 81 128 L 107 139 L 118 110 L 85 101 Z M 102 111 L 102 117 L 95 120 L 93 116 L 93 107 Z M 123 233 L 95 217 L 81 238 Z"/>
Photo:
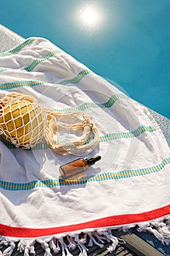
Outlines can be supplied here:
<path id="1" fill-rule="evenodd" d="M 0 97 L 12 91 L 34 96 L 45 108 L 84 111 L 99 130 L 90 154 L 61 156 L 45 140 L 31 150 L 0 141 L 0 240 L 3 255 L 33 252 L 34 242 L 69 254 L 75 246 L 117 238 L 112 229 L 138 226 L 170 241 L 170 151 L 147 109 L 47 39 L 29 38 L 0 54 Z M 76 120 L 74 120 L 76 121 Z M 59 140 L 81 132 L 61 129 Z M 85 176 L 63 181 L 59 166 L 101 155 Z M 82 234 L 79 236 L 79 234 Z M 67 237 L 67 242 L 63 237 Z"/>

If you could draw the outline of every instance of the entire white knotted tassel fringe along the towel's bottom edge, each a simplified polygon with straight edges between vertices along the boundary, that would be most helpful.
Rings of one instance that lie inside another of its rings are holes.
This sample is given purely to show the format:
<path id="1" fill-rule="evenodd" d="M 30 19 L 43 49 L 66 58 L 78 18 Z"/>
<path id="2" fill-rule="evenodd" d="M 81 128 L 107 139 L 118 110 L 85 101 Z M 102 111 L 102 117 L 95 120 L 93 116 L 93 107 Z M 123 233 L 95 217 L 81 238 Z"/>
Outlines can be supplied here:
<path id="1" fill-rule="evenodd" d="M 170 244 L 170 217 L 156 219 L 152 222 L 142 222 L 138 225 L 125 225 L 119 230 L 128 232 L 132 227 L 136 227 L 139 232 L 150 232 L 162 244 Z M 114 228 L 115 229 L 115 228 Z M 121 238 L 113 235 L 113 228 L 101 228 L 98 230 L 83 230 L 77 233 L 57 234 L 45 238 L 0 238 L 0 256 L 10 256 L 18 243 L 18 251 L 23 252 L 24 256 L 35 253 L 34 245 L 36 242 L 41 244 L 45 250 L 45 256 L 52 256 L 52 252 L 61 252 L 62 256 L 73 256 L 74 249 L 79 249 L 79 256 L 88 255 L 88 247 L 94 244 L 100 248 L 104 247 L 105 242 L 111 243 L 107 248 L 108 252 L 114 252 L 118 244 L 125 244 Z M 7 246 L 4 251 L 1 246 Z M 2 251 L 1 251 L 2 250 Z"/>

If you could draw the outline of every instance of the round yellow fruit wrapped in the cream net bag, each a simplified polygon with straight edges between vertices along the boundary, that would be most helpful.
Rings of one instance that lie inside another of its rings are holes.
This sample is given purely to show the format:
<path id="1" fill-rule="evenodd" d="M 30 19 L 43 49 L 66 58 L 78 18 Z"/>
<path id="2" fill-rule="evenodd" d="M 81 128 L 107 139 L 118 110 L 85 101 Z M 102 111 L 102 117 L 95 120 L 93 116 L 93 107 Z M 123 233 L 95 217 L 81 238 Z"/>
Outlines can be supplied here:
<path id="1" fill-rule="evenodd" d="M 28 99 L 12 99 L 1 108 L 0 128 L 2 137 L 15 146 L 33 147 L 44 136 L 43 110 Z"/>

